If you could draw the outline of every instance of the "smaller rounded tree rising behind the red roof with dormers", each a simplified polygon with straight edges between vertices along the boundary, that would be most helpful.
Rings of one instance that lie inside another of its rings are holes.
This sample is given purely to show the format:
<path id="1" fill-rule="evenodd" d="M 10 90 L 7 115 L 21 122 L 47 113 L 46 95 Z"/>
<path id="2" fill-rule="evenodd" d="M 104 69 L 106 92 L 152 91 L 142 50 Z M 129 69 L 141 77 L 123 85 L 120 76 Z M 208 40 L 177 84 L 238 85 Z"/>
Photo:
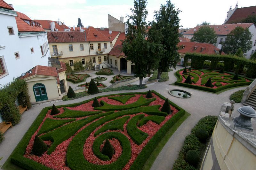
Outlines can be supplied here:
<path id="1" fill-rule="evenodd" d="M 215 44 L 217 42 L 217 35 L 213 28 L 205 25 L 200 27 L 199 30 L 194 33 L 194 36 L 190 39 L 190 41 Z"/>

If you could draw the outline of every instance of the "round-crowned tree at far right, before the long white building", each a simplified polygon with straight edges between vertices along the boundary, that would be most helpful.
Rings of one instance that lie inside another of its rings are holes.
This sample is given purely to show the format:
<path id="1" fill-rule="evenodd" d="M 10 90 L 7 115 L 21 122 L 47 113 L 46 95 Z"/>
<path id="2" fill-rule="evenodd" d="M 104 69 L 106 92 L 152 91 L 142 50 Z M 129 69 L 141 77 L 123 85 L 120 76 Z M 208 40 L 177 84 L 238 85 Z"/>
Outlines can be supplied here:
<path id="1" fill-rule="evenodd" d="M 248 28 L 236 27 L 227 35 L 223 44 L 223 51 L 235 55 L 236 51 L 241 48 L 243 52 L 247 52 L 252 48 L 251 39 L 252 34 Z"/>

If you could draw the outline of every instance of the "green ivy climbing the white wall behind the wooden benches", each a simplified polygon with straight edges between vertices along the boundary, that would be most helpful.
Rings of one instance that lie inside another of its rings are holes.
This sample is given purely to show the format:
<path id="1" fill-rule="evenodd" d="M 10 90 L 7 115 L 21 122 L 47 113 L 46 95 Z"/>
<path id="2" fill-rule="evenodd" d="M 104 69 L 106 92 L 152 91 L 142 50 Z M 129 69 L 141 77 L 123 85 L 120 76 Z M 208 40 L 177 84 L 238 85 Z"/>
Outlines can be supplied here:
<path id="1" fill-rule="evenodd" d="M 15 105 L 16 98 L 20 105 L 27 105 L 28 109 L 30 109 L 28 84 L 18 78 L 0 88 L 0 110 L 2 117 L 4 121 L 12 122 L 12 125 L 20 122 L 20 112 Z"/>

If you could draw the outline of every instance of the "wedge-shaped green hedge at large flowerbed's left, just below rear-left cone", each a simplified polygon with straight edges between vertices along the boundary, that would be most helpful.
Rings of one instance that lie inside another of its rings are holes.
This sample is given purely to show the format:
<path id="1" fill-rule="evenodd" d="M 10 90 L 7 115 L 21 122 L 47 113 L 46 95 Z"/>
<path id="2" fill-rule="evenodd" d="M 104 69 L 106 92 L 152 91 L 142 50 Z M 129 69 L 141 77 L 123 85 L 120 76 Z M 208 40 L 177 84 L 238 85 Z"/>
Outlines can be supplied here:
<path id="1" fill-rule="evenodd" d="M 59 126 L 65 124 L 65 123 L 68 123 L 68 122 L 71 122 L 71 121 L 75 121 L 75 120 L 76 119 L 55 120 L 55 119 L 46 118 L 46 120 L 44 121 L 44 124 L 40 128 L 40 130 L 39 130 L 37 135 L 49 132 L 49 131 L 51 131 L 53 129 L 58 128 Z"/>

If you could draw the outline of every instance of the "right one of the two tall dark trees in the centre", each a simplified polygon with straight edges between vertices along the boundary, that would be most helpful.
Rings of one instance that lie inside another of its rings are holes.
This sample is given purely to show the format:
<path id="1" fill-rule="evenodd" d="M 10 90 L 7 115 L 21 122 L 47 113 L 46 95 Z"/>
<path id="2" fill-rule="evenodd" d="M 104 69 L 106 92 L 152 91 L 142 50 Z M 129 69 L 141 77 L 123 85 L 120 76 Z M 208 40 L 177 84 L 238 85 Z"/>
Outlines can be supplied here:
<path id="1" fill-rule="evenodd" d="M 179 61 L 177 44 L 179 43 L 179 13 L 175 10 L 174 4 L 170 0 L 166 4 L 161 4 L 159 11 L 155 12 L 155 20 L 151 23 L 151 29 L 148 31 L 148 41 L 162 44 L 164 49 L 157 54 L 160 58 L 158 64 L 157 79 L 161 74 Z"/>

